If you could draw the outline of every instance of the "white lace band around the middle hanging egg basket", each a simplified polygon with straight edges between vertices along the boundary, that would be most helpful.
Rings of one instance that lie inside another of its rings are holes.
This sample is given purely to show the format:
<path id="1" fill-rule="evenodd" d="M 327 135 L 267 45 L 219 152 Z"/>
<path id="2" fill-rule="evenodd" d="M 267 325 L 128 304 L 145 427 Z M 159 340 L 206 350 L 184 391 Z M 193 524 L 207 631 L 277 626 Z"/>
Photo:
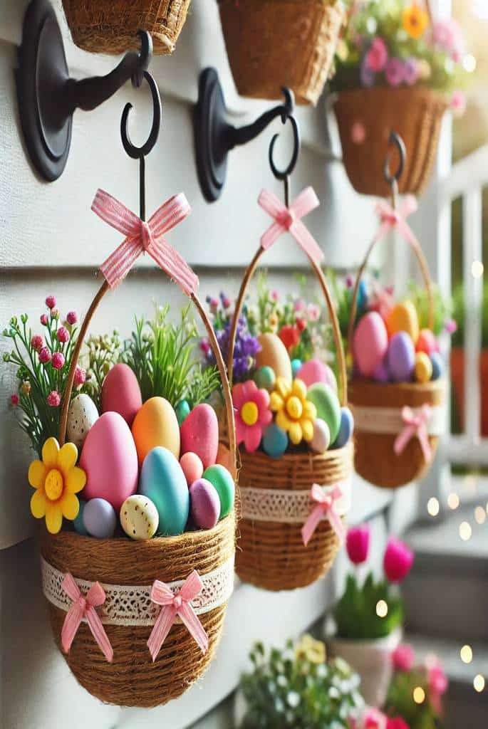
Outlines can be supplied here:
<path id="1" fill-rule="evenodd" d="M 351 481 L 334 483 L 332 486 L 322 486 L 321 488 L 327 494 L 337 486 L 341 489 L 342 496 L 334 502 L 334 509 L 338 516 L 344 516 L 351 508 Z M 307 488 L 306 491 L 252 488 L 251 486 L 240 486 L 239 488 L 244 519 L 303 524 L 314 508 L 310 488 Z M 328 516 L 324 515 L 323 518 L 328 519 Z"/>

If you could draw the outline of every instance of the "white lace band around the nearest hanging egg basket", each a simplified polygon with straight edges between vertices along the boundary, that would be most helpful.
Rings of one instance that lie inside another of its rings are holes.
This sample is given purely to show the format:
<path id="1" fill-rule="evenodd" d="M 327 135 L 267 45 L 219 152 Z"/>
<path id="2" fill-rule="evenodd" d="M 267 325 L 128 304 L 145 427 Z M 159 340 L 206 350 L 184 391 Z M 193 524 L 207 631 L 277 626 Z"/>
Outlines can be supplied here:
<path id="1" fill-rule="evenodd" d="M 71 599 L 62 588 L 64 573 L 41 558 L 42 564 L 42 590 L 44 596 L 55 607 L 68 612 Z M 158 579 L 158 575 L 155 575 Z M 192 601 L 197 615 L 203 615 L 216 607 L 225 604 L 231 597 L 234 583 L 234 558 L 220 565 L 212 572 L 200 575 L 204 588 Z M 74 581 L 80 588 L 82 595 L 86 595 L 93 582 L 88 580 Z M 167 582 L 170 590 L 177 594 L 185 580 Z M 109 625 L 154 625 L 160 612 L 160 605 L 150 600 L 152 585 L 107 585 L 100 583 L 105 590 L 106 599 L 97 609 L 102 623 Z M 179 620 L 179 619 L 178 619 Z"/>

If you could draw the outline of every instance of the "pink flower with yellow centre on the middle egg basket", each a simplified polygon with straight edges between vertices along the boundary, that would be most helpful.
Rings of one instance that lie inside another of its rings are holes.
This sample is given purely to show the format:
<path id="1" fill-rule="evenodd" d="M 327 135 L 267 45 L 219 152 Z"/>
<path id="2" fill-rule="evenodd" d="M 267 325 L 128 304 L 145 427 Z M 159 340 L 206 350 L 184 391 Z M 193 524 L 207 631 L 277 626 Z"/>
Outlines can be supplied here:
<path id="1" fill-rule="evenodd" d="M 269 410 L 269 393 L 257 389 L 254 380 L 234 385 L 232 400 L 236 416 L 237 445 L 244 443 L 248 453 L 259 448 L 263 429 L 271 423 L 273 416 Z"/>

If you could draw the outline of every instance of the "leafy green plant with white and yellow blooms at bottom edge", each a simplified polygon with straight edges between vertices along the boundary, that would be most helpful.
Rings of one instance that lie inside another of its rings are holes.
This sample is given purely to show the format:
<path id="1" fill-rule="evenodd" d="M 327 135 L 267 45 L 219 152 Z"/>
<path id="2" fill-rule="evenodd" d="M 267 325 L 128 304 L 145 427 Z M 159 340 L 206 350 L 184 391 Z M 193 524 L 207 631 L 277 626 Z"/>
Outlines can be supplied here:
<path id="1" fill-rule="evenodd" d="M 252 672 L 241 677 L 244 729 L 349 729 L 363 709 L 357 674 L 340 658 L 326 663 L 325 645 L 311 636 L 268 655 L 257 643 L 250 659 Z"/>

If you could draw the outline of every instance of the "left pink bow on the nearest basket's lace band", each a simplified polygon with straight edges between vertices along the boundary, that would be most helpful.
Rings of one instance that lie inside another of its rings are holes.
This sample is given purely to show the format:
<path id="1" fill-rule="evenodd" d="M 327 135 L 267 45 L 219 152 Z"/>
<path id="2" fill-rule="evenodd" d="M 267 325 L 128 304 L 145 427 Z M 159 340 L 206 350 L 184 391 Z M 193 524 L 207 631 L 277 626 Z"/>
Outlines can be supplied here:
<path id="1" fill-rule="evenodd" d="M 96 640 L 104 654 L 106 660 L 112 663 L 114 651 L 110 645 L 110 641 L 104 626 L 101 624 L 96 607 L 103 605 L 105 602 L 105 591 L 100 582 L 93 582 L 88 590 L 87 596 L 83 597 L 80 588 L 74 581 L 74 577 L 66 572 L 63 579 L 63 590 L 66 595 L 73 601 L 66 617 L 64 618 L 63 629 L 61 630 L 61 645 L 65 653 L 69 652 L 74 636 L 77 634 L 78 628 L 83 618 L 86 618 L 93 638 Z"/>

